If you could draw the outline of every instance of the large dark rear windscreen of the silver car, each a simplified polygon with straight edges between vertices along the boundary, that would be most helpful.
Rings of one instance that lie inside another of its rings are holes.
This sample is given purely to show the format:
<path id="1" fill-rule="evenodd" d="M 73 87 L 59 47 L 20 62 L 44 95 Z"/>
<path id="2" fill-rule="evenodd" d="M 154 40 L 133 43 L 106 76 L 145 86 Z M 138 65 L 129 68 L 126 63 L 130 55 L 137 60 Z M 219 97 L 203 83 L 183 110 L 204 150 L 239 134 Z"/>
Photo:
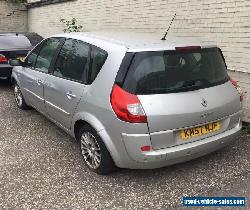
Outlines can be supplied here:
<path id="1" fill-rule="evenodd" d="M 122 87 L 145 95 L 192 91 L 226 81 L 228 75 L 220 50 L 205 48 L 135 53 Z"/>

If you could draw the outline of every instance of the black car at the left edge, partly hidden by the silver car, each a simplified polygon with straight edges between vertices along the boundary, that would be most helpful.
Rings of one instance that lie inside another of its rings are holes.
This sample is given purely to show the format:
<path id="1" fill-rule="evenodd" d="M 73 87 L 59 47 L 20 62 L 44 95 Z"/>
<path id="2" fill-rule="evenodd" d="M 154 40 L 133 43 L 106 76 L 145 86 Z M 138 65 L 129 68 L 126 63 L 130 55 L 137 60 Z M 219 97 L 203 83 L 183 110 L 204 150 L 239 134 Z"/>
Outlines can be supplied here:
<path id="1" fill-rule="evenodd" d="M 12 66 L 9 59 L 24 59 L 28 51 L 43 38 L 36 33 L 1 33 L 0 32 L 0 77 L 11 77 Z"/>

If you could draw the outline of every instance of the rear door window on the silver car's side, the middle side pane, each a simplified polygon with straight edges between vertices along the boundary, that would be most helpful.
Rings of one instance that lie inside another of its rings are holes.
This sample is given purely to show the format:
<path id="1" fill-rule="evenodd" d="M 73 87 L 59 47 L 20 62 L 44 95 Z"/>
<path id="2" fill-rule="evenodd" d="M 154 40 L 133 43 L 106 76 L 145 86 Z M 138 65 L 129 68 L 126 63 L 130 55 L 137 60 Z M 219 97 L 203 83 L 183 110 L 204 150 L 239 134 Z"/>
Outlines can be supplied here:
<path id="1" fill-rule="evenodd" d="M 55 63 L 54 75 L 70 80 L 85 82 L 89 57 L 89 45 L 68 39 L 64 43 Z"/>

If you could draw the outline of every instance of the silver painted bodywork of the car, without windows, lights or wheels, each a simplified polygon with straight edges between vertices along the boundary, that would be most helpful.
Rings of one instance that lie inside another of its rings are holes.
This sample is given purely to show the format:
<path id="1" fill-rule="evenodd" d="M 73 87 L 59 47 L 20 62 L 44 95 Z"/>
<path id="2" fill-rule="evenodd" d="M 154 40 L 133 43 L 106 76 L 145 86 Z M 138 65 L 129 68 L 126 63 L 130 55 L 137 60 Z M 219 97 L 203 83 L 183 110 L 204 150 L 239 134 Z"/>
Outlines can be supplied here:
<path id="1" fill-rule="evenodd" d="M 173 50 L 175 46 L 199 45 L 205 48 L 213 45 L 183 41 L 181 38 L 153 42 L 155 38 L 141 38 L 139 41 L 139 38 L 133 39 L 133 35 L 127 33 L 122 36 L 127 38 L 121 38 L 115 33 L 104 36 L 101 34 L 102 32 L 52 36 L 81 40 L 108 53 L 107 60 L 92 84 L 84 85 L 57 78 L 51 72 L 28 73 L 23 67 L 15 67 L 12 77 L 24 91 L 28 104 L 35 108 L 38 106 L 39 111 L 71 136 L 75 137 L 77 122 L 91 125 L 105 143 L 115 164 L 122 168 L 149 169 L 167 166 L 207 154 L 237 138 L 241 129 L 241 103 L 238 92 L 230 82 L 185 93 L 139 95 L 148 123 L 124 122 L 117 118 L 110 104 L 114 81 L 127 52 Z M 43 86 L 35 87 L 40 76 Z M 41 107 L 40 102 L 34 102 L 39 101 L 39 98 L 25 89 L 37 91 L 35 94 L 43 99 Z M 75 100 L 68 99 L 66 93 L 69 91 L 76 95 Z M 207 101 L 207 107 L 201 104 L 203 98 Z M 210 112 L 213 114 L 207 115 Z M 181 129 L 216 120 L 222 123 L 220 132 L 194 138 L 186 143 L 180 141 L 178 135 Z M 152 150 L 142 152 L 141 146 L 145 145 Z"/>

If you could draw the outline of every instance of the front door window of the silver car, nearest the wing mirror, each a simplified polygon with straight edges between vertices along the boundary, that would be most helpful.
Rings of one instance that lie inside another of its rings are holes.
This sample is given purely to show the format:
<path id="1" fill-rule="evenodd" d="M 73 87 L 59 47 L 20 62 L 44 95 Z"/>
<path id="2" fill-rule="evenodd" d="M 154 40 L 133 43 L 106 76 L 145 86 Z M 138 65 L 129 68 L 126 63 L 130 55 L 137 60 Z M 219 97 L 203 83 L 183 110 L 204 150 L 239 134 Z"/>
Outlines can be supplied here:
<path id="1" fill-rule="evenodd" d="M 50 38 L 46 40 L 42 45 L 40 53 L 37 57 L 35 68 L 39 69 L 42 72 L 48 73 L 50 63 L 59 44 L 60 39 L 58 38 Z"/>

